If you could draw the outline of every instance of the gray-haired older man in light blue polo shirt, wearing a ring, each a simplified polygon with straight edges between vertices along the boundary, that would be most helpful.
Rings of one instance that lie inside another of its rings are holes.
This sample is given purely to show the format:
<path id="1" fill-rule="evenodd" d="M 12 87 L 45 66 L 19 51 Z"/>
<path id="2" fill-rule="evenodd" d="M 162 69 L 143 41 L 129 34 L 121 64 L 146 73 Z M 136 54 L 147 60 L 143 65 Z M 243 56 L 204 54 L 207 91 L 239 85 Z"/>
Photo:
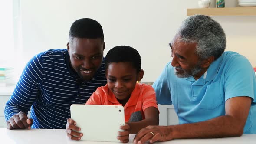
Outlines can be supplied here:
<path id="1" fill-rule="evenodd" d="M 149 126 L 134 142 L 256 134 L 256 79 L 252 65 L 224 52 L 225 33 L 209 16 L 190 16 L 170 43 L 172 61 L 153 87 L 157 101 L 174 105 L 179 123 Z"/>

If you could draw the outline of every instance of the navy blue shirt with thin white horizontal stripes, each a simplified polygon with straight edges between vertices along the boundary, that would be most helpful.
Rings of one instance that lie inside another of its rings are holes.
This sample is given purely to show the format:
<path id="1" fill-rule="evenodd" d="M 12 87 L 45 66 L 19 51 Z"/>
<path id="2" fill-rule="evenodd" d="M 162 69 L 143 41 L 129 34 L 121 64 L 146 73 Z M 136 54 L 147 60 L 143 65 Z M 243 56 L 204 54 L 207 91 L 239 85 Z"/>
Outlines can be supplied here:
<path id="1" fill-rule="evenodd" d="M 105 58 L 95 77 L 83 82 L 71 69 L 67 49 L 39 53 L 25 66 L 6 103 L 5 119 L 8 121 L 20 111 L 27 114 L 31 107 L 31 128 L 65 129 L 70 105 L 85 104 L 106 83 Z"/>

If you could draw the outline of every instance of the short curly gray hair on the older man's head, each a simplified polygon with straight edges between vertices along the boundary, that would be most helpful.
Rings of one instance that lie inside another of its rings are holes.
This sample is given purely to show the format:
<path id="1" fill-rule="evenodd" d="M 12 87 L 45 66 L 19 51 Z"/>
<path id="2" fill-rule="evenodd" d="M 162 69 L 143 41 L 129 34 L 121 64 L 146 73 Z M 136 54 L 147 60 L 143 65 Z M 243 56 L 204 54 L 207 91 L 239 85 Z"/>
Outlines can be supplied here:
<path id="1" fill-rule="evenodd" d="M 226 35 L 220 24 L 204 15 L 188 17 L 181 23 L 177 33 L 185 43 L 197 43 L 196 54 L 207 59 L 218 59 L 226 48 Z"/>

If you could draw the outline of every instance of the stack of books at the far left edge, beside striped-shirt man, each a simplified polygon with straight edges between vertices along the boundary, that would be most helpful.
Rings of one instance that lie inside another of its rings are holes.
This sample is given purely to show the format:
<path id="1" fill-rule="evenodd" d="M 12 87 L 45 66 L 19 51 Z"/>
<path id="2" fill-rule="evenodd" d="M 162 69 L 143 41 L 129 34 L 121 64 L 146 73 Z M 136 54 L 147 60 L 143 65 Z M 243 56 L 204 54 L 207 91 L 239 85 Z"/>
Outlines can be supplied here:
<path id="1" fill-rule="evenodd" d="M 0 67 L 0 86 L 8 86 L 14 84 L 14 69 L 11 67 Z"/>

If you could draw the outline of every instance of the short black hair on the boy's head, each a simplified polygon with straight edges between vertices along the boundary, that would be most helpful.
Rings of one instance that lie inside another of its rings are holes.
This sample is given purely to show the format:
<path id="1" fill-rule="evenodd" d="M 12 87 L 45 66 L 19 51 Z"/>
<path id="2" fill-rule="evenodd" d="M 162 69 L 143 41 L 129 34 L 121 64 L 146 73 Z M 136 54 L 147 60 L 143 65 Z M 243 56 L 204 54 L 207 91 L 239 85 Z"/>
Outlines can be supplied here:
<path id="1" fill-rule="evenodd" d="M 137 72 L 141 70 L 141 56 L 138 51 L 130 46 L 115 46 L 110 49 L 105 57 L 105 67 L 118 62 L 130 62 Z"/>

